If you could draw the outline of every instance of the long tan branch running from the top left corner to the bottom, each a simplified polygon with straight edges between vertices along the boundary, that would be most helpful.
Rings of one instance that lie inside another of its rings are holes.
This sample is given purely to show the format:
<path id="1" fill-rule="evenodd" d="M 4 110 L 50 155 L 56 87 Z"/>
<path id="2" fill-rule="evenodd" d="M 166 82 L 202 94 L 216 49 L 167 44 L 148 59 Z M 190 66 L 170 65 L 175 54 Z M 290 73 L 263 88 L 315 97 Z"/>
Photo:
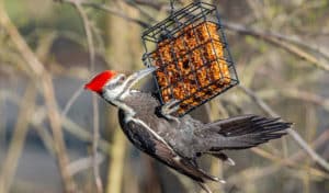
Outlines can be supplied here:
<path id="1" fill-rule="evenodd" d="M 44 91 L 45 102 L 48 107 L 48 118 L 50 122 L 50 127 L 55 140 L 55 151 L 57 156 L 57 161 L 63 178 L 63 183 L 66 192 L 75 192 L 76 183 L 73 179 L 69 175 L 67 171 L 68 156 L 66 152 L 66 147 L 64 143 L 64 136 L 60 126 L 60 116 L 56 109 L 56 99 L 54 95 L 54 87 L 52 82 L 52 77 L 44 69 L 43 64 L 38 60 L 32 49 L 29 47 L 24 38 L 19 33 L 15 25 L 10 21 L 7 11 L 4 9 L 3 0 L 0 0 L 0 24 L 9 34 L 10 39 L 13 42 L 14 46 L 22 55 L 26 61 L 29 68 L 31 69 L 31 75 L 29 75 L 34 81 L 41 82 L 42 89 Z M 25 68 L 25 67 L 24 67 Z"/>

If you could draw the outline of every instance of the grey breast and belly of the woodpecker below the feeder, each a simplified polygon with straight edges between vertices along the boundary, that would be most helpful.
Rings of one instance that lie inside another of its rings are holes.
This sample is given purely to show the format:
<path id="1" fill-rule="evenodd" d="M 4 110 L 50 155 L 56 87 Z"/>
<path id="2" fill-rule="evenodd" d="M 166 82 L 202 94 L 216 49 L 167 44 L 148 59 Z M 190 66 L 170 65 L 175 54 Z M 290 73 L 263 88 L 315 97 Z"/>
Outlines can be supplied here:
<path id="1" fill-rule="evenodd" d="M 133 113 L 124 113 L 126 123 L 139 122 L 139 125 L 147 128 L 147 132 L 151 130 L 155 136 L 164 140 L 180 155 L 185 157 L 194 155 L 193 147 L 197 144 L 194 130 L 200 127 L 198 122 L 190 116 L 180 118 L 180 122 L 160 117 L 156 113 L 159 103 L 150 98 L 135 98 L 128 100 L 127 105 L 132 107 Z"/>

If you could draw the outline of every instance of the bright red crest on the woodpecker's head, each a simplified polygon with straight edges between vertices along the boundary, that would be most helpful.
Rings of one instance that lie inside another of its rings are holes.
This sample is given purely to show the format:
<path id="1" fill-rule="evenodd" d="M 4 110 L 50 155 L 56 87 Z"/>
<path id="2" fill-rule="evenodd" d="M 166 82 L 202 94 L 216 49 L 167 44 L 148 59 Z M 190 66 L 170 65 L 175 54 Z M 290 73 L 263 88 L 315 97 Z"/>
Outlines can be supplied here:
<path id="1" fill-rule="evenodd" d="M 88 82 L 84 86 L 84 89 L 94 91 L 94 92 L 101 92 L 105 83 L 111 80 L 113 77 L 115 77 L 116 71 L 113 70 L 106 70 L 99 75 L 97 75 L 90 82 Z"/>

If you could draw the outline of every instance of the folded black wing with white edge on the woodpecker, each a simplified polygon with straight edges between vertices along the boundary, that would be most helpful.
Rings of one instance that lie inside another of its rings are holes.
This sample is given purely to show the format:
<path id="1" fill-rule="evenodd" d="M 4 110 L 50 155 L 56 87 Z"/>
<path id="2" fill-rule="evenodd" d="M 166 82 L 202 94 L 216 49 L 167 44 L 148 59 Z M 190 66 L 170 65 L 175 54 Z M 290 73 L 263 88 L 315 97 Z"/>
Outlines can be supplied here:
<path id="1" fill-rule="evenodd" d="M 218 178 L 201 170 L 194 159 L 183 158 L 178 155 L 161 136 L 143 121 L 134 117 L 127 120 L 122 110 L 118 111 L 118 116 L 125 135 L 141 151 L 197 182 L 204 183 L 207 180 L 220 181 Z"/>

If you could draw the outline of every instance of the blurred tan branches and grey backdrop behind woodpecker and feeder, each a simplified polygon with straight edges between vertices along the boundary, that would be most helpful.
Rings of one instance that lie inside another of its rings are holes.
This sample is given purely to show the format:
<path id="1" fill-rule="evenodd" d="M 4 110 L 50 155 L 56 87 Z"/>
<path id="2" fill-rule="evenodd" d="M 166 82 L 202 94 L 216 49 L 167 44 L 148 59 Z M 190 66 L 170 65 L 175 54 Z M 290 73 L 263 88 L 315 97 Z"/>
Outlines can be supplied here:
<path id="1" fill-rule="evenodd" d="M 240 87 L 193 115 L 295 123 L 283 139 L 227 152 L 235 167 L 202 159 L 227 180 L 212 190 L 329 192 L 329 1 L 206 2 L 222 14 Z M 202 192 L 133 147 L 116 110 L 82 91 L 104 69 L 144 68 L 141 33 L 169 12 L 164 0 L 0 0 L 0 192 Z"/>

